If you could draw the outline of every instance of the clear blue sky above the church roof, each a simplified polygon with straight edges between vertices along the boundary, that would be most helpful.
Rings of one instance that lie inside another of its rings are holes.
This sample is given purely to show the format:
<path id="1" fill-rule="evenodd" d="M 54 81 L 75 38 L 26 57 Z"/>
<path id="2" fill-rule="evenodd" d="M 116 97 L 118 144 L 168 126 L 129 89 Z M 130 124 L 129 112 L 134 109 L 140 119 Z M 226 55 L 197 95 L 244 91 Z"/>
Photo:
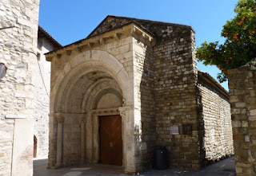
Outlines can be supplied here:
<path id="1" fill-rule="evenodd" d="M 196 46 L 203 41 L 223 41 L 220 37 L 226 20 L 234 17 L 237 0 L 41 0 L 39 25 L 42 25 L 62 45 L 78 41 L 87 35 L 108 14 L 162 22 L 191 25 L 196 31 Z M 216 79 L 218 68 L 204 66 Z M 227 82 L 222 86 L 228 89 Z"/>

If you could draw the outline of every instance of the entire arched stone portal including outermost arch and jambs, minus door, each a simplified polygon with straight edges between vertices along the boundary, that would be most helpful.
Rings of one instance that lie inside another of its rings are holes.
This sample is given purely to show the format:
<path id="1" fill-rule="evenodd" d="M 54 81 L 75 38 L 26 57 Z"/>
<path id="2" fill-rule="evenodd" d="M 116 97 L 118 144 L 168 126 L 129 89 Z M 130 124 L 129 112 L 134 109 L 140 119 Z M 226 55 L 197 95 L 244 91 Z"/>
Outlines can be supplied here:
<path id="1" fill-rule="evenodd" d="M 102 143 L 99 133 L 101 119 L 103 116 L 119 115 L 118 133 L 121 131 L 122 135 L 121 145 L 120 143 L 118 145 L 121 146 L 119 153 L 121 152 L 122 161 L 118 164 L 112 163 L 122 165 L 126 169 L 129 162 L 132 162 L 130 170 L 133 170 L 134 162 L 131 156 L 134 151 L 126 150 L 127 147 L 133 148 L 134 141 L 128 143 L 126 140 L 127 136 L 132 136 L 133 133 L 128 134 L 126 129 L 128 126 L 125 125 L 134 118 L 132 112 L 134 109 L 127 107 L 133 104 L 133 84 L 126 69 L 116 58 L 102 52 L 100 55 L 105 56 L 106 59 L 98 61 L 92 59 L 94 53 L 90 51 L 90 59 L 88 59 L 90 61 L 86 61 L 86 58 L 83 61 L 79 57 L 74 57 L 70 64 L 66 65 L 76 63 L 75 60 L 79 58 L 77 65 L 65 70 L 66 75 L 58 76 L 51 89 L 50 131 L 53 132 L 50 132 L 49 165 L 73 166 L 85 162 L 102 162 L 100 154 L 104 151 L 100 148 Z M 88 55 L 83 53 L 82 56 Z M 126 111 L 131 111 L 130 118 L 126 118 Z M 108 147 L 111 146 L 110 143 Z M 103 148 L 106 149 L 106 146 Z M 127 152 L 122 153 L 122 151 Z M 130 156 L 129 160 L 127 156 Z"/>

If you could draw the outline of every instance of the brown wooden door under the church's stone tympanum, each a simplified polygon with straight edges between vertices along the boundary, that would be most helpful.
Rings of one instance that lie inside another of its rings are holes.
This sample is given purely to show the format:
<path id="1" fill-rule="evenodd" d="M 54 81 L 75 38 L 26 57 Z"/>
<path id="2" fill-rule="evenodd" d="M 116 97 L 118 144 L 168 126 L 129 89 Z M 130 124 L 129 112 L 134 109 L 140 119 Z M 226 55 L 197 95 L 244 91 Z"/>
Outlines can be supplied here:
<path id="1" fill-rule="evenodd" d="M 120 115 L 99 117 L 99 145 L 100 163 L 122 166 L 122 119 Z"/>

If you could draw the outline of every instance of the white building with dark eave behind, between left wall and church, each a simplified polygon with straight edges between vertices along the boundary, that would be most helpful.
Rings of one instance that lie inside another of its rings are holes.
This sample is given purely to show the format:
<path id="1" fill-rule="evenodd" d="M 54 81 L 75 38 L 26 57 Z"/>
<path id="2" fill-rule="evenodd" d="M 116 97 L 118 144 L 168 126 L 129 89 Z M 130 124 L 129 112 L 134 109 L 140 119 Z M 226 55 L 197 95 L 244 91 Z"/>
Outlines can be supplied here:
<path id="1" fill-rule="evenodd" d="M 49 102 L 50 102 L 50 62 L 45 53 L 61 48 L 45 29 L 38 26 L 38 50 L 36 69 L 33 74 L 36 100 L 34 101 L 34 158 L 47 158 L 49 147 Z"/>

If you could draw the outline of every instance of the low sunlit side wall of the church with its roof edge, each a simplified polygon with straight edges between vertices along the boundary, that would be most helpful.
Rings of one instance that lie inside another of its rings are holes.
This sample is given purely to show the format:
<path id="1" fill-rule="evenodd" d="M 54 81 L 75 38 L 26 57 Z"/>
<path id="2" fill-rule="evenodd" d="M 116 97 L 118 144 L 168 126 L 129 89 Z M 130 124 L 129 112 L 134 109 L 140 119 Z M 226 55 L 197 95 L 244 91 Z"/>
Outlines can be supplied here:
<path id="1" fill-rule="evenodd" d="M 206 72 L 198 72 L 202 115 L 202 166 L 234 154 L 228 92 Z"/>

